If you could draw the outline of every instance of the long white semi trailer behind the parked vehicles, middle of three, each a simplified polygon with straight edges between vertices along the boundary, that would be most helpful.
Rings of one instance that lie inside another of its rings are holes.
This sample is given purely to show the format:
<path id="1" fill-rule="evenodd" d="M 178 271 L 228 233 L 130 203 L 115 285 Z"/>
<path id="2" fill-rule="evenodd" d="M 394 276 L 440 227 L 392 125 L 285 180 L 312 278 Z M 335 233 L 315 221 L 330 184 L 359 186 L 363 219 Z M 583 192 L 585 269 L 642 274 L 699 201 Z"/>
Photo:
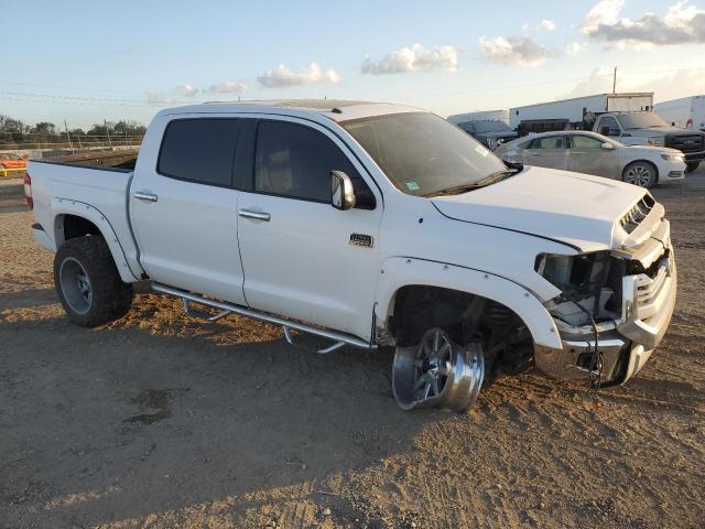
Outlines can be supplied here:
<path id="1" fill-rule="evenodd" d="M 573 128 L 582 127 L 586 115 L 637 112 L 653 109 L 653 93 L 597 94 L 560 101 L 540 102 L 509 109 L 509 126 L 518 129 L 522 121 L 567 119 Z M 592 125 L 590 125 L 592 127 Z"/>

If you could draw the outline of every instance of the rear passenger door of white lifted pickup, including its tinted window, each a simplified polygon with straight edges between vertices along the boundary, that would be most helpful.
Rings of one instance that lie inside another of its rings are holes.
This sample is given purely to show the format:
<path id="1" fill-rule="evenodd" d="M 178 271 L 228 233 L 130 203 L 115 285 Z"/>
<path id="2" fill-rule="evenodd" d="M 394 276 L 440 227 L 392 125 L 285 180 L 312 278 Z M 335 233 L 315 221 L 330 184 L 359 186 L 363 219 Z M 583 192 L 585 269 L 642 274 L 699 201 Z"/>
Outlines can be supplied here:
<path id="1" fill-rule="evenodd" d="M 239 126 L 236 118 L 189 116 L 151 126 L 153 141 L 144 144 L 152 151 L 138 158 L 129 199 L 151 279 L 243 304 L 232 176 Z"/>

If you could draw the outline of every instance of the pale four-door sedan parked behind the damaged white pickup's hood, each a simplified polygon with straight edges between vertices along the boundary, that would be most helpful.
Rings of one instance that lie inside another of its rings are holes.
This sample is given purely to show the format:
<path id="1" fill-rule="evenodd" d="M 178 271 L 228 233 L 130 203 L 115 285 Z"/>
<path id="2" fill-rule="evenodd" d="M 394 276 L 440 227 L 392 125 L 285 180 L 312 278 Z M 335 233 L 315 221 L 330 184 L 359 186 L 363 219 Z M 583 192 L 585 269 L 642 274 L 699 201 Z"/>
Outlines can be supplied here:
<path id="1" fill-rule="evenodd" d="M 527 136 L 498 147 L 495 154 L 508 162 L 596 174 L 641 187 L 685 177 L 685 158 L 681 151 L 625 145 L 584 130 Z"/>

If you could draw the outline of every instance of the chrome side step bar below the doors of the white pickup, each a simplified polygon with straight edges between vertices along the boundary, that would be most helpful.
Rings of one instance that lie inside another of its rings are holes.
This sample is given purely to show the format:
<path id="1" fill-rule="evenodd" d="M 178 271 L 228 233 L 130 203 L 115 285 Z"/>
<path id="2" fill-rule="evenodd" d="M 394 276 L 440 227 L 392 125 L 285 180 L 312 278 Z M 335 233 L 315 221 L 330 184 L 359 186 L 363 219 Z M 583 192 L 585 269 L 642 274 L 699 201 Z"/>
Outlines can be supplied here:
<path id="1" fill-rule="evenodd" d="M 338 350 L 340 347 L 345 345 L 351 345 L 354 347 L 359 347 L 362 349 L 371 349 L 376 347 L 376 345 L 365 342 L 364 339 L 349 334 L 338 333 L 336 331 L 327 331 L 318 327 L 312 327 L 304 323 L 285 320 L 283 317 L 274 316 L 272 314 L 268 314 L 264 312 L 253 311 L 251 309 L 246 309 L 243 306 L 235 305 L 232 303 L 224 303 L 221 301 L 208 300 L 200 295 L 192 294 L 191 292 L 186 292 L 180 289 L 174 289 L 172 287 L 166 287 L 165 284 L 152 283 L 152 290 L 156 292 L 162 292 L 164 294 L 175 295 L 176 298 L 181 298 L 184 302 L 184 311 L 189 316 L 200 317 L 209 322 L 215 322 L 216 320 L 220 320 L 221 317 L 227 316 L 228 314 L 239 314 L 241 316 L 251 317 L 253 320 L 260 320 L 262 322 L 273 323 L 274 325 L 281 325 L 282 328 L 284 330 L 284 337 L 286 338 L 286 342 L 289 342 L 292 345 L 294 345 L 294 341 L 291 335 L 292 330 L 300 331 L 302 333 L 313 334 L 314 336 L 319 336 L 322 338 L 327 338 L 335 342 L 333 345 L 328 347 L 318 349 L 319 354 L 333 353 L 334 350 Z M 193 309 L 191 306 L 192 302 L 210 306 L 213 309 L 218 309 L 220 312 L 214 315 L 208 314 L 197 309 Z"/>

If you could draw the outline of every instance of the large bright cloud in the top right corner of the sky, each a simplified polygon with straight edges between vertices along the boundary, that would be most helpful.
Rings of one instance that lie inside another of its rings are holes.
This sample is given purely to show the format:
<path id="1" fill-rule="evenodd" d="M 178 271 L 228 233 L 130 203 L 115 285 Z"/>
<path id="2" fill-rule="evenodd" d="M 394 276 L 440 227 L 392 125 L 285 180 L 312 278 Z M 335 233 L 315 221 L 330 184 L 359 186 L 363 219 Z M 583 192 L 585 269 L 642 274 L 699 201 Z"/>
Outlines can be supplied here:
<path id="1" fill-rule="evenodd" d="M 600 0 L 587 13 L 581 32 L 605 47 L 643 48 L 705 43 L 705 10 L 680 0 L 663 17 L 646 12 L 637 20 L 619 18 L 623 0 Z"/>

